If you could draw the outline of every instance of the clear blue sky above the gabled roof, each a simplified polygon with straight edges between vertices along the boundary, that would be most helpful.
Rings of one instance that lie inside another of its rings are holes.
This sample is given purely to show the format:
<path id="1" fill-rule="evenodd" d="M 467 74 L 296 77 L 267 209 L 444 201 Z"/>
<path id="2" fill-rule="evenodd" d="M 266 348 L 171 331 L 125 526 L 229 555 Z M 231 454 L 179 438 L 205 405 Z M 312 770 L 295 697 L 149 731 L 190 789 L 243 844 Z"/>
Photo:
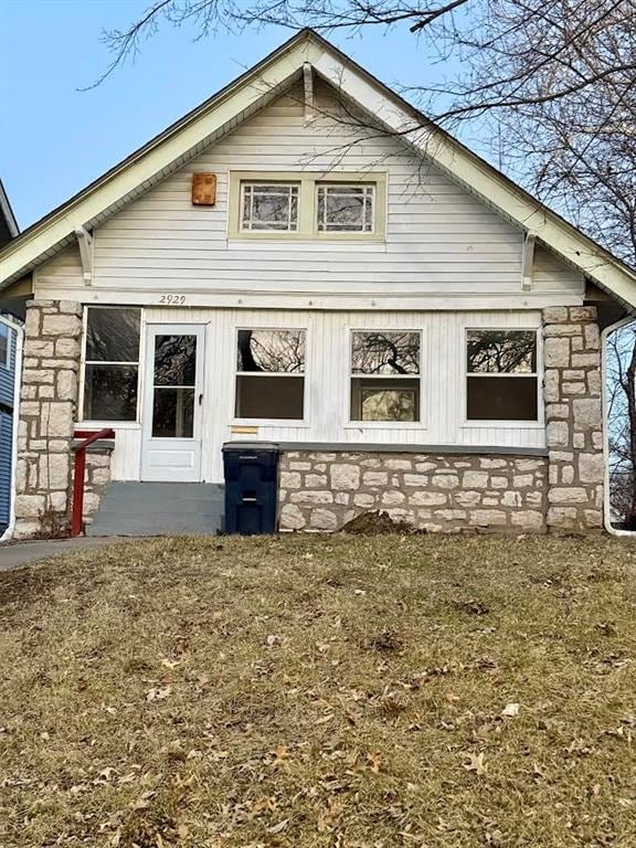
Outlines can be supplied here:
<path id="1" fill-rule="evenodd" d="M 94 180 L 289 38 L 269 28 L 195 41 L 166 26 L 102 85 L 104 29 L 150 0 L 0 0 L 0 177 L 22 229 Z M 330 36 L 331 38 L 331 36 Z M 332 41 L 392 86 L 442 73 L 407 28 Z"/>

